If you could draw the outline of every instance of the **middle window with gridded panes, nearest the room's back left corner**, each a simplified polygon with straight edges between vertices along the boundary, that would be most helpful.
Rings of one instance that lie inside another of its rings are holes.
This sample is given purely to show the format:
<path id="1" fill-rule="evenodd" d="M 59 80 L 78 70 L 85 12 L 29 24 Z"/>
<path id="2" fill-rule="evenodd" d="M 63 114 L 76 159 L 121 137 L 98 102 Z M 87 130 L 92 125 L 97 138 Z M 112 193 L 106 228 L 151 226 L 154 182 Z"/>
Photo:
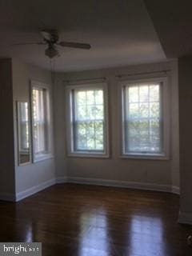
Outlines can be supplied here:
<path id="1" fill-rule="evenodd" d="M 69 154 L 107 155 L 106 85 L 67 88 Z"/>

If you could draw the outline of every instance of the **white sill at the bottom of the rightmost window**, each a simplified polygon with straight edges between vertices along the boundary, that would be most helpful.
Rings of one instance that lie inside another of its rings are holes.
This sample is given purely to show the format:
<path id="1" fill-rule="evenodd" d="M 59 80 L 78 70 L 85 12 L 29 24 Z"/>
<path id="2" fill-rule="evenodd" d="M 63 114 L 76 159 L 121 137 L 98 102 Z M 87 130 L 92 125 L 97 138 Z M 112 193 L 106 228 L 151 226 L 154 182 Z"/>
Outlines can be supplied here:
<path id="1" fill-rule="evenodd" d="M 169 157 L 166 154 L 122 154 L 121 158 L 141 160 L 169 160 Z"/>

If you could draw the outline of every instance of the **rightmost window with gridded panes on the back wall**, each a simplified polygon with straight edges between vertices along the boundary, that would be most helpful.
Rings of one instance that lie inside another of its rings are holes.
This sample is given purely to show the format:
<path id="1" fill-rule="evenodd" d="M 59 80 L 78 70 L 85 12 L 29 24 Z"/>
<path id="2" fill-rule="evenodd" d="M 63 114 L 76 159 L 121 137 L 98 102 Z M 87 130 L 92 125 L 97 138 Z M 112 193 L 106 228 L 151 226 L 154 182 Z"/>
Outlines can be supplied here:
<path id="1" fill-rule="evenodd" d="M 166 156 L 165 93 L 165 78 L 123 83 L 122 154 Z"/>

